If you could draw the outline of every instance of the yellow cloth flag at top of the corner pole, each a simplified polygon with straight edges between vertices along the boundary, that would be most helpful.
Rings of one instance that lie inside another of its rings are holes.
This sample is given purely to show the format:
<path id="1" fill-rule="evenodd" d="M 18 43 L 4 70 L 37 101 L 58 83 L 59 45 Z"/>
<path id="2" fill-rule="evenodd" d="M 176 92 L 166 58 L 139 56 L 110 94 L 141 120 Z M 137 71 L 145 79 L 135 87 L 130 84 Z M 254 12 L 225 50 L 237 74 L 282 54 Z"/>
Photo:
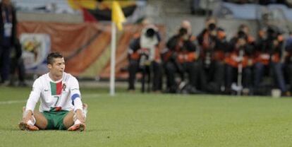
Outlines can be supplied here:
<path id="1" fill-rule="evenodd" d="M 125 22 L 126 18 L 123 15 L 120 5 L 116 1 L 113 1 L 113 5 L 111 7 L 111 20 L 116 23 L 118 30 L 123 30 L 122 23 Z"/>

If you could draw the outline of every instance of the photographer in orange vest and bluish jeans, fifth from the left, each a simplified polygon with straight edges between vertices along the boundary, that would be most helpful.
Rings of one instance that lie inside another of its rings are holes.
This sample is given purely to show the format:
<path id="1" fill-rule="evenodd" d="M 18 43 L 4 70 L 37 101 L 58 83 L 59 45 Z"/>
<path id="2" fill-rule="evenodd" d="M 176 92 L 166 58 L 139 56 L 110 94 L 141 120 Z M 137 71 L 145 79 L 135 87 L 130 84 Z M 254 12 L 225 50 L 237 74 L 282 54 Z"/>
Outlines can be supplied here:
<path id="1" fill-rule="evenodd" d="M 264 74 L 273 76 L 276 86 L 282 93 L 286 93 L 284 75 L 282 71 L 281 55 L 283 36 L 275 26 L 268 26 L 267 30 L 260 32 L 256 47 L 255 58 L 255 88 L 262 87 Z"/>

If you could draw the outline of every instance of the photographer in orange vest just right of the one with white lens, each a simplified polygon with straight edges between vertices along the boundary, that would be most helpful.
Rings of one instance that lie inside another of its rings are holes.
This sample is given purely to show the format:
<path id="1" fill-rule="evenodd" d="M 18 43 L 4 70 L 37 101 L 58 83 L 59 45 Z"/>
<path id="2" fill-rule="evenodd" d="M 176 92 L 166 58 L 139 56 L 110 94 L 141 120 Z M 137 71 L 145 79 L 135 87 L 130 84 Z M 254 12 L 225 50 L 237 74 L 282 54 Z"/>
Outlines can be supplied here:
<path id="1" fill-rule="evenodd" d="M 179 73 L 183 83 L 185 83 L 184 74 L 188 73 L 189 84 L 187 93 L 197 92 L 195 87 L 197 81 L 198 64 L 196 57 L 196 47 L 193 42 L 194 40 L 195 37 L 191 35 L 190 22 L 184 20 L 181 23 L 181 28 L 178 30 L 178 33 L 171 37 L 166 43 L 167 48 L 163 53 L 164 68 L 167 79 L 166 92 L 176 93 L 179 90 L 174 73 Z"/>

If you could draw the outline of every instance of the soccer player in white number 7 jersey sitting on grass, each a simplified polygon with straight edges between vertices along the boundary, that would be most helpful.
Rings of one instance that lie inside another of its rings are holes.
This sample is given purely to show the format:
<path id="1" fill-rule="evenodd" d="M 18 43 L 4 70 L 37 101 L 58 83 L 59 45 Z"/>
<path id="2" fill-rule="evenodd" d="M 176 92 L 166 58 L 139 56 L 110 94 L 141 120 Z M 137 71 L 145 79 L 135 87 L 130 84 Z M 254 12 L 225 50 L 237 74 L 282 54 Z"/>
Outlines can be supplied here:
<path id="1" fill-rule="evenodd" d="M 21 130 L 67 129 L 85 130 L 87 105 L 81 101 L 79 84 L 75 77 L 64 72 L 65 61 L 58 52 L 47 57 L 49 73 L 33 83 L 26 107 L 23 107 Z M 35 110 L 40 100 L 39 111 Z M 35 110 L 35 111 L 34 111 Z"/>

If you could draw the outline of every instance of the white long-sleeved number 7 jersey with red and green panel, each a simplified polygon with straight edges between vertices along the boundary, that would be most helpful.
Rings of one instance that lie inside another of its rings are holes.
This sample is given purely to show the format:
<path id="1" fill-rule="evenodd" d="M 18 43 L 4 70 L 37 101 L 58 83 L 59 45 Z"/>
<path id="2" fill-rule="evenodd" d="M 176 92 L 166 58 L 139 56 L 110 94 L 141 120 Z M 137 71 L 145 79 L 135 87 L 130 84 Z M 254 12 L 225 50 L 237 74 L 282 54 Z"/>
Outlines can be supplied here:
<path id="1" fill-rule="evenodd" d="M 33 83 L 25 110 L 35 110 L 40 98 L 39 112 L 73 110 L 73 100 L 81 98 L 79 83 L 74 76 L 63 72 L 63 78 L 52 81 L 46 73 Z"/>

